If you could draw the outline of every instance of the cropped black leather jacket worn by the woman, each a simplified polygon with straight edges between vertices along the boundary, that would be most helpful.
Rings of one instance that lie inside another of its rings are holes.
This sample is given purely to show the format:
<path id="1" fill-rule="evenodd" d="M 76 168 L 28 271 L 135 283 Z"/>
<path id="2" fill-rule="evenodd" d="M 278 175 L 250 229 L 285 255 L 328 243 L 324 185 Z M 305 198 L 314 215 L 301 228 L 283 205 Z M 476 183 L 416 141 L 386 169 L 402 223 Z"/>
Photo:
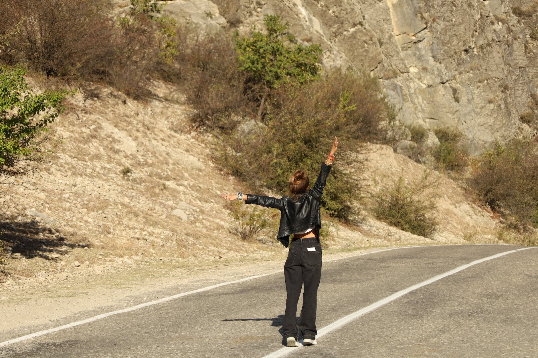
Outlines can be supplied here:
<path id="1" fill-rule="evenodd" d="M 323 195 L 325 181 L 329 175 L 331 166 L 321 164 L 320 175 L 318 175 L 313 188 L 310 188 L 305 195 L 299 197 L 294 202 L 289 196 L 280 199 L 270 196 L 247 194 L 246 204 L 257 204 L 266 207 L 274 207 L 281 211 L 280 227 L 278 230 L 278 241 L 288 247 L 289 235 L 304 231 L 314 226 L 314 233 L 317 241 L 320 241 L 321 215 L 320 198 Z"/>

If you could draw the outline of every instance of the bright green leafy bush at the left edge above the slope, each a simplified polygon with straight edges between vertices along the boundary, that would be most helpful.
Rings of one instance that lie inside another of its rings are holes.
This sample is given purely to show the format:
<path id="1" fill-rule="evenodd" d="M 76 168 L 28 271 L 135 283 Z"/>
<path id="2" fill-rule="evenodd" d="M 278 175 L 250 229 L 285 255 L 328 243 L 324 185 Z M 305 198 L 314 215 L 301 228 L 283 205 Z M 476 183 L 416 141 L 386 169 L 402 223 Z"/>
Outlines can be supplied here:
<path id="1" fill-rule="evenodd" d="M 28 164 L 41 158 L 47 124 L 63 111 L 71 92 L 36 94 L 24 79 L 24 70 L 0 66 L 0 174 L 24 174 Z"/>

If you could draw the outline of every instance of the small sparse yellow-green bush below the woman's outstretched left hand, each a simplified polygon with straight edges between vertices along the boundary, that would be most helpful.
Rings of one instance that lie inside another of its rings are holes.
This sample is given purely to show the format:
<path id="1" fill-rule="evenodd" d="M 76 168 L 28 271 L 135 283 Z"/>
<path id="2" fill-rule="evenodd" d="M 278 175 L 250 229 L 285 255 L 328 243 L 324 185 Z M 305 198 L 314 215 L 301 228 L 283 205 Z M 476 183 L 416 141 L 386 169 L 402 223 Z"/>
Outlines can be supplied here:
<path id="1" fill-rule="evenodd" d="M 244 241 L 252 242 L 256 235 L 270 225 L 263 210 L 239 202 L 226 202 L 230 218 L 235 221 L 235 233 Z"/>

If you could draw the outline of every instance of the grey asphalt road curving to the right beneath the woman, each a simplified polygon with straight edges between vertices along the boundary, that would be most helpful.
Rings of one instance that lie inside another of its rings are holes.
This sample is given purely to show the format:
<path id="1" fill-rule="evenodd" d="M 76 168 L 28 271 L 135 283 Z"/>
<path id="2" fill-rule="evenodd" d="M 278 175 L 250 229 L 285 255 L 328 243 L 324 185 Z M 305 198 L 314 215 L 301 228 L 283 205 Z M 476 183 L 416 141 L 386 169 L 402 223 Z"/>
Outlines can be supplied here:
<path id="1" fill-rule="evenodd" d="M 323 263 L 318 330 L 511 245 L 387 250 Z M 263 357 L 281 349 L 284 274 L 0 347 L 1 357 Z M 299 310 L 301 305 L 299 304 Z M 538 357 L 538 248 L 475 264 L 389 302 L 290 357 Z M 16 337 L 12 337 L 16 338 Z"/>

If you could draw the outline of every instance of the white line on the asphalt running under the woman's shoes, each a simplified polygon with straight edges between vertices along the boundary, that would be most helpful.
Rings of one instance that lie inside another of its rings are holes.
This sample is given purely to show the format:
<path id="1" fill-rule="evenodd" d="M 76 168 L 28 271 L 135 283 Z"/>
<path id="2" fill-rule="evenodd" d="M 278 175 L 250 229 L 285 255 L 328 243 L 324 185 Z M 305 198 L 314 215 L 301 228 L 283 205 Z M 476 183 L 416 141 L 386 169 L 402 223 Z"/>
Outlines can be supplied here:
<path id="1" fill-rule="evenodd" d="M 493 255 L 493 256 L 484 257 L 484 259 L 479 259 L 479 260 L 473 261 L 471 263 L 465 264 L 463 266 L 456 267 L 455 269 L 447 271 L 444 274 L 440 274 L 440 275 L 431 277 L 426 281 L 423 281 L 421 283 L 417 283 L 416 285 L 413 285 L 411 287 L 408 287 L 406 289 L 403 289 L 401 291 L 393 293 L 392 295 L 390 295 L 388 297 L 385 297 L 384 299 L 381 299 L 376 303 L 372 303 L 370 306 L 364 307 L 361 310 L 358 310 L 356 312 L 348 314 L 348 316 L 345 316 L 345 317 L 343 317 L 343 318 L 341 318 L 341 319 L 339 319 L 337 321 L 334 321 L 330 325 L 321 328 L 321 330 L 319 330 L 317 332 L 316 339 L 321 338 L 325 334 L 330 333 L 331 331 L 337 330 L 338 328 L 342 327 L 343 325 L 346 325 L 346 324 L 350 323 L 352 320 L 354 320 L 354 319 L 356 319 L 356 318 L 358 318 L 360 316 L 363 316 L 366 313 L 372 312 L 373 310 L 377 309 L 378 307 L 381 307 L 384 304 L 387 304 L 387 303 L 389 303 L 389 302 L 391 302 L 391 301 L 393 301 L 393 300 L 395 300 L 395 299 L 397 299 L 397 298 L 399 298 L 401 296 L 404 296 L 406 293 L 409 293 L 411 291 L 419 289 L 422 286 L 426 286 L 426 285 L 428 285 L 430 283 L 433 283 L 435 281 L 441 280 L 441 278 L 444 278 L 444 277 L 453 275 L 455 273 L 458 273 L 459 271 L 464 270 L 464 269 L 466 269 L 468 267 L 471 267 L 473 265 L 476 265 L 477 263 L 497 259 L 497 257 L 500 257 L 500 256 L 504 256 L 504 255 L 507 255 L 507 254 L 512 254 L 514 252 L 527 250 L 527 249 L 531 249 L 531 248 L 536 248 L 536 247 L 525 247 L 525 248 L 520 248 L 520 249 L 516 249 L 516 250 L 510 250 L 510 251 L 506 251 L 506 252 L 501 252 L 501 253 L 499 253 L 497 255 Z M 277 351 L 275 351 L 275 352 L 273 352 L 271 354 L 268 354 L 268 355 L 264 356 L 263 358 L 283 357 L 285 355 L 288 355 L 288 354 L 294 352 L 296 349 L 299 349 L 301 347 L 303 347 L 303 346 L 299 346 L 299 347 L 284 347 L 284 348 L 281 348 L 281 349 L 279 349 L 279 350 L 277 350 Z"/>

